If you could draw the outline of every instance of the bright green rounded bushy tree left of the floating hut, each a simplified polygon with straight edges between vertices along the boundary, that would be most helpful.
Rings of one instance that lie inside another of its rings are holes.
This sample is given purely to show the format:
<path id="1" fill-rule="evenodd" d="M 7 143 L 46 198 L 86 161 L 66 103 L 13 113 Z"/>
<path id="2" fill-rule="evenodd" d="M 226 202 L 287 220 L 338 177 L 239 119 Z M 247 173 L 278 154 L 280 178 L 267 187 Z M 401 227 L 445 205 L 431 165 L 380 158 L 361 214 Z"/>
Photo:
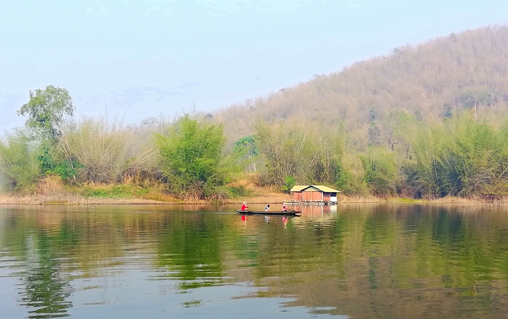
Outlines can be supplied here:
<path id="1" fill-rule="evenodd" d="M 170 127 L 167 136 L 156 135 L 162 171 L 169 188 L 182 199 L 205 199 L 226 183 L 221 165 L 226 137 L 222 126 L 200 126 L 188 115 Z"/>

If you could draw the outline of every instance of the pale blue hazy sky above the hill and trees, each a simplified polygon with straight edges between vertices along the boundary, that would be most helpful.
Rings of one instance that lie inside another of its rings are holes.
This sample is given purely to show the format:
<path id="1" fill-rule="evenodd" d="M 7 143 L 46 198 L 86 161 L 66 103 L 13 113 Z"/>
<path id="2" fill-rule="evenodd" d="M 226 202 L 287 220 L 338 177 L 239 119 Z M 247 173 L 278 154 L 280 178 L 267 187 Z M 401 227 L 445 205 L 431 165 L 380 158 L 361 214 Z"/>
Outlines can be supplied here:
<path id="1" fill-rule="evenodd" d="M 506 0 L 0 0 L 0 131 L 48 85 L 69 90 L 77 118 L 139 124 L 506 23 Z"/>

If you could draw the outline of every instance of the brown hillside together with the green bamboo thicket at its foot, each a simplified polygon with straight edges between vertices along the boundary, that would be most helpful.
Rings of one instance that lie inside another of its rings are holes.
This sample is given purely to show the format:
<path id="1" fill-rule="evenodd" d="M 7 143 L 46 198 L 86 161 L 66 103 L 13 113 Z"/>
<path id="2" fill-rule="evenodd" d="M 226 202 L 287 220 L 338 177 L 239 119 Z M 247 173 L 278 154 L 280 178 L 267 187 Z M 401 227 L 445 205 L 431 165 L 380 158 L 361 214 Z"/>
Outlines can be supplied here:
<path id="1" fill-rule="evenodd" d="M 449 34 L 217 112 L 266 184 L 347 194 L 508 194 L 508 27 Z M 237 143 L 238 144 L 238 143 Z"/>

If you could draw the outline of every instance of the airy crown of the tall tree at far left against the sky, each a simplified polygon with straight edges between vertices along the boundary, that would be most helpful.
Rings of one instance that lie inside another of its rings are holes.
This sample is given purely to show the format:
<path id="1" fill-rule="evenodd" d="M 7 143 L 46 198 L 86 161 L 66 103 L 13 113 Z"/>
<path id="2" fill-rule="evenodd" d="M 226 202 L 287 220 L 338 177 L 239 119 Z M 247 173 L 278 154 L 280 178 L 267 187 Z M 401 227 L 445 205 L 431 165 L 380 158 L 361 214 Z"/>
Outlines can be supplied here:
<path id="1" fill-rule="evenodd" d="M 72 116 L 75 108 L 66 89 L 49 85 L 45 90 L 30 91 L 30 100 L 17 111 L 27 116 L 26 127 L 42 134 L 44 138 L 56 138 L 61 134 L 66 116 Z"/>

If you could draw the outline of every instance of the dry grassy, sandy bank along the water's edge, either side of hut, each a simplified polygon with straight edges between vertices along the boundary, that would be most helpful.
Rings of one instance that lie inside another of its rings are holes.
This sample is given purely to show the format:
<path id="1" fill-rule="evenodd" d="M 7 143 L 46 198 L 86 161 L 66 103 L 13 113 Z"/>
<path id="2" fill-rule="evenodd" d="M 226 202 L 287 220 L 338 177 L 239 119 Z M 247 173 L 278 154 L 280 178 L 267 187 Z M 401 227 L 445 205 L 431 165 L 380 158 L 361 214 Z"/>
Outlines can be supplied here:
<path id="1" fill-rule="evenodd" d="M 59 178 L 48 176 L 35 188 L 25 193 L 0 194 L 0 204 L 21 205 L 171 205 L 171 204 L 248 204 L 283 203 L 290 194 L 281 193 L 274 187 L 259 187 L 249 180 L 228 184 L 224 194 L 210 200 L 180 200 L 166 191 L 166 185 L 151 183 L 93 184 L 66 186 Z M 439 204 L 462 206 L 504 206 L 502 199 L 488 202 L 482 198 L 466 199 L 444 197 L 436 200 L 421 200 L 400 197 L 346 196 L 338 197 L 339 203 L 377 204 Z"/>

